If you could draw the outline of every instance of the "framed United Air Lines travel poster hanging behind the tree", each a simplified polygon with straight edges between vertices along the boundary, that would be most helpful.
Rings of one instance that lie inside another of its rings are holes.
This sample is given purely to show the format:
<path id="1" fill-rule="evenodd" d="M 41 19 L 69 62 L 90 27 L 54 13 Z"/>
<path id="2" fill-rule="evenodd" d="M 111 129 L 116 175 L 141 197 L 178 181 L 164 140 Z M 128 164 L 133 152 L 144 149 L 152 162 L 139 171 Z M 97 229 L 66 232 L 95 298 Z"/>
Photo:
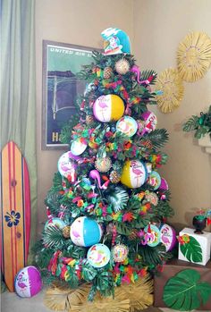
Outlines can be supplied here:
<path id="1" fill-rule="evenodd" d="M 43 41 L 42 149 L 65 149 L 59 140 L 63 123 L 76 114 L 75 103 L 86 82 L 76 73 L 93 62 L 88 46 Z"/>

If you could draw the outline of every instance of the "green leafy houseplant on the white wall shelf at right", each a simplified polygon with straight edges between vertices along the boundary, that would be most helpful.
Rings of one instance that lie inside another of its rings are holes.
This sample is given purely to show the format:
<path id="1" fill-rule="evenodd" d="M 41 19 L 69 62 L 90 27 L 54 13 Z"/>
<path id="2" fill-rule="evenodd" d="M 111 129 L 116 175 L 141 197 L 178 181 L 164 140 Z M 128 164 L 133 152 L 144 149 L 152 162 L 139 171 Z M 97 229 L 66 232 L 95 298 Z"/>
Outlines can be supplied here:
<path id="1" fill-rule="evenodd" d="M 209 133 L 211 136 L 211 105 L 206 113 L 201 112 L 198 115 L 192 115 L 190 119 L 183 124 L 183 131 L 195 131 L 194 137 L 201 139 Z"/>

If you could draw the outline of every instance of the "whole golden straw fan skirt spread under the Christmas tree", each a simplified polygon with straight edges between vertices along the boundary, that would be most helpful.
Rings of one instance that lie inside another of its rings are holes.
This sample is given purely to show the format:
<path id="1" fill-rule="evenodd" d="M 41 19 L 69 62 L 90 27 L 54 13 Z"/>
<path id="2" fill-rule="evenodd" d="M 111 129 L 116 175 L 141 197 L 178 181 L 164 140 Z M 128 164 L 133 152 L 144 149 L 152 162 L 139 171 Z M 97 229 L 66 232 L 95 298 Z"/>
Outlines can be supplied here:
<path id="1" fill-rule="evenodd" d="M 44 303 L 54 311 L 67 312 L 134 312 L 148 308 L 153 303 L 153 280 L 149 275 L 139 278 L 135 283 L 123 284 L 115 288 L 115 296 L 102 297 L 99 292 L 90 302 L 91 285 L 86 283 L 76 290 L 54 285 L 47 289 Z"/>

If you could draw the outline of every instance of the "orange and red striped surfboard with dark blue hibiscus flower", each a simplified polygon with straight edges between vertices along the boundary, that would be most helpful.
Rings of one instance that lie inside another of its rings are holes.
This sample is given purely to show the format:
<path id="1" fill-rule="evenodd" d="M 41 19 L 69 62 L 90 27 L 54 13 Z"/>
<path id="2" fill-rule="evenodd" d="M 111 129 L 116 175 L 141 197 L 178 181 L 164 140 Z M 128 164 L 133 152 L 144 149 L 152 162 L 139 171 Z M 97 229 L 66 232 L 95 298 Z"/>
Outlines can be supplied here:
<path id="1" fill-rule="evenodd" d="M 15 275 L 27 265 L 30 246 L 30 176 L 17 145 L 7 143 L 0 158 L 0 259 L 4 282 L 14 291 Z"/>

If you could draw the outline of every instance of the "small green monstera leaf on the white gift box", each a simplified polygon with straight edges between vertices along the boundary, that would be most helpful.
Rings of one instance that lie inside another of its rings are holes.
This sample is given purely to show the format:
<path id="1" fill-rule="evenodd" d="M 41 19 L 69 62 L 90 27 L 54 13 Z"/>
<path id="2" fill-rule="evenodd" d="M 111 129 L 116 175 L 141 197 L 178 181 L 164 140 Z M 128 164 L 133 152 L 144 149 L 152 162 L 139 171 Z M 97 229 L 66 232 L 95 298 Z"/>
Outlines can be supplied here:
<path id="1" fill-rule="evenodd" d="M 190 262 L 201 262 L 202 261 L 202 249 L 198 241 L 190 236 L 190 241 L 185 244 L 180 244 L 181 253 Z"/>

